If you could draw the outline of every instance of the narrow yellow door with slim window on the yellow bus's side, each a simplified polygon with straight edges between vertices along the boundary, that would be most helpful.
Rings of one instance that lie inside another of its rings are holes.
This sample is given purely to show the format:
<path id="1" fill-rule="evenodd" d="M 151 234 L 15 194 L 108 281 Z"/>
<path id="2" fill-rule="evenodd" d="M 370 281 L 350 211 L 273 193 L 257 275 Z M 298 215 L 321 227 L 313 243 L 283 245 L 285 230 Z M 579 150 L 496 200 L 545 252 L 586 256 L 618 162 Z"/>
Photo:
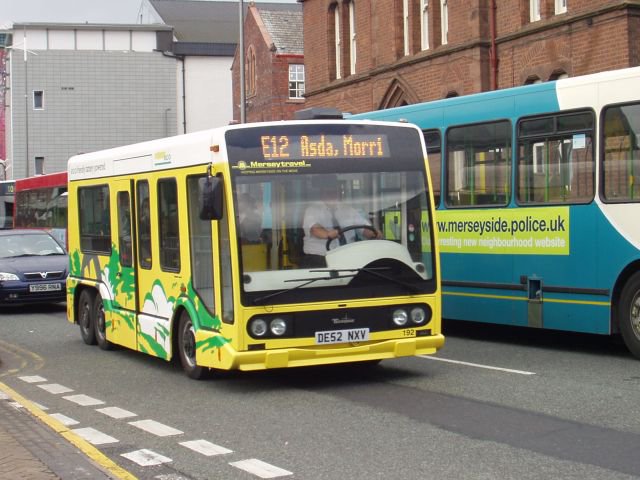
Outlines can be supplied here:
<path id="1" fill-rule="evenodd" d="M 133 248 L 133 223 L 131 221 L 132 198 L 131 182 L 115 182 L 115 195 L 112 196 L 112 212 L 116 220 L 113 233 L 114 251 L 110 269 L 117 273 L 112 277 L 113 317 L 108 340 L 128 348 L 136 347 L 136 273 Z M 112 223 L 112 225 L 113 225 Z"/>

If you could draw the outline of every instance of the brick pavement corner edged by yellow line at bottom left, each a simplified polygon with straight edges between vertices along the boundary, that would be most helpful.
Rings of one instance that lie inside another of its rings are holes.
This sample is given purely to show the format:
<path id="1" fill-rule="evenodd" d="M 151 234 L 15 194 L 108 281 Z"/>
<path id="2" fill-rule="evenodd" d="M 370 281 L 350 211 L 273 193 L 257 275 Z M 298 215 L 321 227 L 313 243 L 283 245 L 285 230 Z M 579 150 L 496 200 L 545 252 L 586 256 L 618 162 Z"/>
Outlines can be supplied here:
<path id="1" fill-rule="evenodd" d="M 0 480 L 135 478 L 36 404 L 0 382 Z"/>

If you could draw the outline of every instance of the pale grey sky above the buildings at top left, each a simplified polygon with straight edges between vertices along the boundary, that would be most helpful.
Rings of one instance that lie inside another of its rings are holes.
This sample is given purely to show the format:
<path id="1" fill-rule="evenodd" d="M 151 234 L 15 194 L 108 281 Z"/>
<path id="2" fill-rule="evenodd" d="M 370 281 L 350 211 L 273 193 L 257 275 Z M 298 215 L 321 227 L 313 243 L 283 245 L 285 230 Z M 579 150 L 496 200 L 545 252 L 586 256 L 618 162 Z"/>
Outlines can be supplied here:
<path id="1" fill-rule="evenodd" d="M 142 0 L 0 0 L 0 26 L 11 22 L 137 23 L 141 3 Z"/>

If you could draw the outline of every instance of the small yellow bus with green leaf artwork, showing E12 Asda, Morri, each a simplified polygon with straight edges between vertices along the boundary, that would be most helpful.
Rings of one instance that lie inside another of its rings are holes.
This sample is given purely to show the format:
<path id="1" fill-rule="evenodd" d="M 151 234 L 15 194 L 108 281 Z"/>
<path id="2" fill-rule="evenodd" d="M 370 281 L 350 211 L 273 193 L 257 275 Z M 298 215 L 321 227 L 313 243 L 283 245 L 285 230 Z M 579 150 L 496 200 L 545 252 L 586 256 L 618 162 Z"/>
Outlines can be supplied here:
<path id="1" fill-rule="evenodd" d="M 198 379 L 444 344 L 414 126 L 232 125 L 77 155 L 68 173 L 67 315 L 89 345 L 177 356 Z M 350 216 L 316 238 L 326 189 Z"/>

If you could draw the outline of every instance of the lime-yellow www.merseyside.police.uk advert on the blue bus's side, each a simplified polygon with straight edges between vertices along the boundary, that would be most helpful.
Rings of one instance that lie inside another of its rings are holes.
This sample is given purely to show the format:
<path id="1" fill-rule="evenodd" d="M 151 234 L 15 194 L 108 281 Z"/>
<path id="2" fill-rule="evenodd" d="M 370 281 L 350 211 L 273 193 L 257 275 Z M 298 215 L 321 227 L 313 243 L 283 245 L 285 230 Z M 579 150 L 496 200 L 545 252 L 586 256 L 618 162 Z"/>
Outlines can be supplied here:
<path id="1" fill-rule="evenodd" d="M 569 207 L 442 210 L 441 253 L 569 255 Z"/>

